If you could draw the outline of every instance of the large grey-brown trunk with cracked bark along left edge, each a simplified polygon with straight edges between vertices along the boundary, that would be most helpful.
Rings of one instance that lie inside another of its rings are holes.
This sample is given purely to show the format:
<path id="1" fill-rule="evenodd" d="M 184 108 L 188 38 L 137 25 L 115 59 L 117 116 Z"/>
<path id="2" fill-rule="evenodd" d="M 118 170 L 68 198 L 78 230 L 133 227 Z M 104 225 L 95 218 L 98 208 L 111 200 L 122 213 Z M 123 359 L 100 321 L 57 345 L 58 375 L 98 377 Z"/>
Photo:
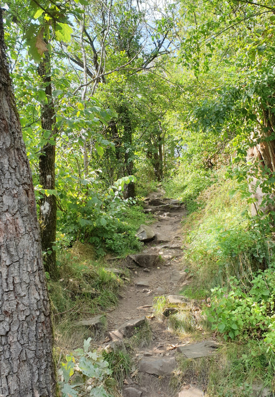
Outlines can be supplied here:
<path id="1" fill-rule="evenodd" d="M 35 195 L 0 8 L 0 395 L 54 396 L 52 322 Z"/>

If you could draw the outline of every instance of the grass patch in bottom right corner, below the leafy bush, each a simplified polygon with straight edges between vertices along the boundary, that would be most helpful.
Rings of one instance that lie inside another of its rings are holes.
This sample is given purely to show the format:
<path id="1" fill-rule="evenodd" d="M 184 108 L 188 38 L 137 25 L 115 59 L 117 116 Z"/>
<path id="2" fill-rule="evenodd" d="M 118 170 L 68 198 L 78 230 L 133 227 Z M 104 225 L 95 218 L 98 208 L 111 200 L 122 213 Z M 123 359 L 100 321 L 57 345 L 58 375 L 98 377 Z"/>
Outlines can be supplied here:
<path id="1" fill-rule="evenodd" d="M 258 341 L 221 345 L 215 355 L 196 359 L 177 355 L 170 387 L 197 384 L 206 397 L 252 396 L 252 384 L 275 388 L 275 353 Z"/>

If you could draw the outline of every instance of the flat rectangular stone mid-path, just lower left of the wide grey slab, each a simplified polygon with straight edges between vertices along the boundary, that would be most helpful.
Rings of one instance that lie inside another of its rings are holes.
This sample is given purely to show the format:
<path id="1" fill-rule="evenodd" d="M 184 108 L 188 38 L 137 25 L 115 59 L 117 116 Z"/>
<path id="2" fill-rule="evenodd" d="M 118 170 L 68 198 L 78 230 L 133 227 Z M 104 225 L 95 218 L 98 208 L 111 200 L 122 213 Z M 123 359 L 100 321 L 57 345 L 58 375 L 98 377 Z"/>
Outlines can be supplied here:
<path id="1" fill-rule="evenodd" d="M 147 374 L 163 376 L 166 374 L 171 374 L 176 366 L 177 362 L 174 357 L 151 357 L 140 360 L 139 370 L 140 372 L 146 372 Z"/>

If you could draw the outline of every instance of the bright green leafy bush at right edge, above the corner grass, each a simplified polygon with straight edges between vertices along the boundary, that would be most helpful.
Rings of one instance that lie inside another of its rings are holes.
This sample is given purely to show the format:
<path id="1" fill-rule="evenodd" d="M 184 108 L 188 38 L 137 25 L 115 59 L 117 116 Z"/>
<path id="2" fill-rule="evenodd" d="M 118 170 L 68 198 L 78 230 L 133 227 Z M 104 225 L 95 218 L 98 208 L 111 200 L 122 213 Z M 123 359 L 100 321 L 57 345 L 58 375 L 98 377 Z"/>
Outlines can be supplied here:
<path id="1" fill-rule="evenodd" d="M 231 290 L 226 287 L 212 289 L 212 303 L 204 313 L 212 322 L 213 330 L 224 333 L 224 339 L 265 337 L 275 343 L 275 273 L 274 268 L 259 271 L 248 283 L 230 279 Z"/>

